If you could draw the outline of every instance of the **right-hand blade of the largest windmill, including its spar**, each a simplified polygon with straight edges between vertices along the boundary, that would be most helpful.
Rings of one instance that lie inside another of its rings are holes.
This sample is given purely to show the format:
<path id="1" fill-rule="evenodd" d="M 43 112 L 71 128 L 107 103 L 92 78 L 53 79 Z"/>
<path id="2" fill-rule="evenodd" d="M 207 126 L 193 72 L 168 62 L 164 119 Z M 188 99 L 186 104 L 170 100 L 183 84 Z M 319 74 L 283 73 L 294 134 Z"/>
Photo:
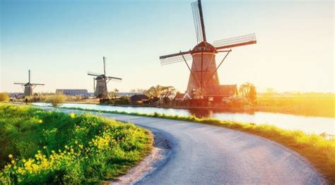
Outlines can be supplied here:
<path id="1" fill-rule="evenodd" d="M 216 49 L 226 49 L 256 43 L 257 43 L 256 35 L 252 33 L 249 35 L 242 35 L 239 37 L 233 37 L 224 40 L 216 40 L 213 42 L 213 46 L 216 47 Z"/>

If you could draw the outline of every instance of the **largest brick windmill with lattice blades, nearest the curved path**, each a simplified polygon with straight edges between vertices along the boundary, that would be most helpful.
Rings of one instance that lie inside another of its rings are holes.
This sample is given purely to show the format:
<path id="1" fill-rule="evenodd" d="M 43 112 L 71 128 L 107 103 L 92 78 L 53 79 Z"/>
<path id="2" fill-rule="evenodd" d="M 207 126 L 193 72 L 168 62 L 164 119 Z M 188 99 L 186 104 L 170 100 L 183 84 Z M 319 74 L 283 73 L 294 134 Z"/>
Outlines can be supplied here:
<path id="1" fill-rule="evenodd" d="M 214 41 L 209 44 L 206 40 L 204 25 L 204 16 L 201 8 L 201 0 L 192 3 L 192 12 L 194 18 L 194 28 L 196 30 L 196 46 L 187 52 L 179 52 L 160 56 L 160 64 L 167 65 L 184 61 L 189 69 L 189 83 L 187 93 L 194 98 L 201 98 L 203 92 L 208 92 L 208 88 L 220 85 L 218 80 L 218 68 L 223 61 L 232 52 L 232 47 L 240 47 L 248 44 L 256 44 L 256 35 L 242 35 L 225 40 Z M 220 64 L 216 66 L 216 54 L 225 53 Z M 192 67 L 189 67 L 187 61 L 192 60 Z M 213 91 L 213 90 L 212 90 Z"/>

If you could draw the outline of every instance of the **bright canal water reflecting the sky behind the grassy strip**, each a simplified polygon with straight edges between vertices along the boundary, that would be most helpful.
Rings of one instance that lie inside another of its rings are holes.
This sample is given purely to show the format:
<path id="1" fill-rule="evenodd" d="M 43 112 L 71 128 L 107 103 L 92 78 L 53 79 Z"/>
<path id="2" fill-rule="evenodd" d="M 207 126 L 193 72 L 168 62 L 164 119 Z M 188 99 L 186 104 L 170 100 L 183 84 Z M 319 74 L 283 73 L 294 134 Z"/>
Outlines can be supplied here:
<path id="1" fill-rule="evenodd" d="M 38 106 L 49 106 L 47 103 L 33 103 Z M 305 133 L 327 133 L 335 135 L 335 119 L 324 117 L 305 117 L 293 114 L 279 114 L 269 112 L 231 113 L 231 112 L 214 112 L 211 110 L 192 110 L 192 109 L 164 109 L 156 107 L 118 107 L 108 105 L 90 105 L 90 104 L 62 104 L 60 107 L 77 107 L 83 109 L 96 109 L 105 111 L 119 111 L 128 113 L 145 113 L 153 114 L 154 112 L 168 115 L 197 117 L 214 117 L 221 120 L 239 121 L 243 123 L 269 124 L 278 126 L 282 129 L 300 130 Z"/>

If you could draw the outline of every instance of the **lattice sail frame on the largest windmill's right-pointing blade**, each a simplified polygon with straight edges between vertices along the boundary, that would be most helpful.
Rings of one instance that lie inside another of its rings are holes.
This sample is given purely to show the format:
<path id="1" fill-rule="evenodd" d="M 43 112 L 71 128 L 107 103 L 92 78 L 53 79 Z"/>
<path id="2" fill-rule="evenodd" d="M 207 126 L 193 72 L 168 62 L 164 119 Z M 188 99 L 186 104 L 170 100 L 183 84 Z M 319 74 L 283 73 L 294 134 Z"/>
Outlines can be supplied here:
<path id="1" fill-rule="evenodd" d="M 214 47 L 226 47 L 226 46 L 232 46 L 232 45 L 238 45 L 238 44 L 244 44 L 248 42 L 256 42 L 256 34 L 248 34 L 248 35 L 242 35 L 239 37 L 232 37 L 224 40 L 216 40 L 213 42 Z"/>

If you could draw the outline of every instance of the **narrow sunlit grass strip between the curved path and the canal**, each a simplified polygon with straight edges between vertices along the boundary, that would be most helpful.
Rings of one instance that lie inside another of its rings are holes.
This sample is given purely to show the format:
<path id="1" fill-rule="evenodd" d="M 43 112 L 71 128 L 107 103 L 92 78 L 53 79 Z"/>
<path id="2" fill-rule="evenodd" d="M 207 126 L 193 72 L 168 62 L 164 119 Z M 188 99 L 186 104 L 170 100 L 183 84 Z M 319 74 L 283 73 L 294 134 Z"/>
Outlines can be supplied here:
<path id="1" fill-rule="evenodd" d="M 221 121 L 213 118 L 196 118 L 196 117 L 179 117 L 165 114 L 140 114 L 127 113 L 117 111 L 99 111 L 94 109 L 80 109 L 80 108 L 61 108 L 61 109 L 77 109 L 91 112 L 105 112 L 113 114 L 125 114 L 141 117 L 155 117 L 163 119 L 174 119 L 180 121 L 191 121 L 201 124 L 210 124 L 213 126 L 222 126 L 228 129 L 237 131 L 244 131 L 257 136 L 268 138 L 287 148 L 294 150 L 303 157 L 307 158 L 316 169 L 326 177 L 331 184 L 335 183 L 335 141 L 329 141 L 321 136 L 306 135 L 302 131 L 287 131 L 279 129 L 276 126 L 270 125 L 256 125 L 256 124 L 242 124 L 235 121 Z"/>

